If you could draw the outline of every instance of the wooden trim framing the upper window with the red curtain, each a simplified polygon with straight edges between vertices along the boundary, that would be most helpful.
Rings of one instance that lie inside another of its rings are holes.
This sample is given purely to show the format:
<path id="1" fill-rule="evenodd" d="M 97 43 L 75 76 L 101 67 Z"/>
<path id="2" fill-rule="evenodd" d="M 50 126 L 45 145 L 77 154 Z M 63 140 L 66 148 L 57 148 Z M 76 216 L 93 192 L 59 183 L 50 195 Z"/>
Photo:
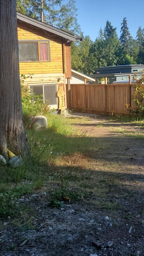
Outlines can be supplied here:
<path id="1" fill-rule="evenodd" d="M 50 59 L 50 42 L 49 39 L 48 40 L 18 40 L 18 43 L 22 43 L 22 42 L 34 42 L 34 43 L 38 43 L 38 61 L 19 61 L 19 63 L 22 62 L 51 62 Z M 47 43 L 47 50 L 48 50 L 48 60 L 40 60 L 40 43 Z"/>

